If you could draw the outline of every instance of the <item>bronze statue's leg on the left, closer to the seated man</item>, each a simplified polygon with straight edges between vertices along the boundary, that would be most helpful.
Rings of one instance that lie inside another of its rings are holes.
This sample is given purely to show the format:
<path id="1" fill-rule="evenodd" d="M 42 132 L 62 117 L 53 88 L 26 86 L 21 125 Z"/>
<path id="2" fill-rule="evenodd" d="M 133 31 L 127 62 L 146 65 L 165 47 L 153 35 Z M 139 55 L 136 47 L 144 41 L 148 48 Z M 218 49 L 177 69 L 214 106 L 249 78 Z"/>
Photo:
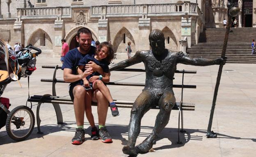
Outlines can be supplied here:
<path id="1" fill-rule="evenodd" d="M 123 153 L 128 155 L 137 155 L 135 150 L 136 139 L 140 133 L 140 122 L 143 115 L 151 108 L 152 94 L 144 90 L 137 97 L 133 104 L 130 115 L 130 124 L 128 130 L 128 144 L 123 147 Z"/>

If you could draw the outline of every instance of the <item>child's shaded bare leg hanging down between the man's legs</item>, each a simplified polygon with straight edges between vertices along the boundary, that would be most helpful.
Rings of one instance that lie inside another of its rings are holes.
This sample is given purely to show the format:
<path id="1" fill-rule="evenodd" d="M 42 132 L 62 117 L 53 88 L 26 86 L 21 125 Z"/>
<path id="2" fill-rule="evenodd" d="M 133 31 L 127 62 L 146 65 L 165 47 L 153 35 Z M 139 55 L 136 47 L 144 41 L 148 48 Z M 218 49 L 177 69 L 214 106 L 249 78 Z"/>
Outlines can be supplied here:
<path id="1" fill-rule="evenodd" d="M 91 128 L 95 126 L 94 123 L 94 117 L 91 113 L 91 97 L 92 97 L 92 92 L 87 91 L 85 94 L 85 115 L 91 125 Z"/>

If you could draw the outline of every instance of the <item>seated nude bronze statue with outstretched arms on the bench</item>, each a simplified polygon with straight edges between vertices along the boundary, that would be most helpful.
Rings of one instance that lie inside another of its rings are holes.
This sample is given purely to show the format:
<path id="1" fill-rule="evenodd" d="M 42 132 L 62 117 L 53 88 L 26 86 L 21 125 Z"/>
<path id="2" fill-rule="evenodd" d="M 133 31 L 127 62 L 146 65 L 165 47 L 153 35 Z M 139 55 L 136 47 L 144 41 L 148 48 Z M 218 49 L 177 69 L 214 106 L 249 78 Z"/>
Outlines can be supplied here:
<path id="1" fill-rule="evenodd" d="M 178 63 L 208 66 L 225 62 L 222 58 L 208 60 L 187 57 L 182 52 L 171 52 L 165 49 L 165 36 L 158 29 L 154 29 L 149 34 L 149 42 L 152 50 L 137 51 L 130 59 L 121 61 L 110 68 L 110 71 L 114 71 L 144 62 L 146 69 L 145 88 L 133 104 L 128 130 L 128 144 L 123 147 L 123 153 L 128 155 L 148 152 L 155 144 L 157 135 L 169 122 L 171 108 L 176 103 L 172 87 Z M 135 147 L 140 132 L 141 119 L 155 105 L 160 107 L 160 111 L 156 117 L 153 131 L 149 137 Z"/>

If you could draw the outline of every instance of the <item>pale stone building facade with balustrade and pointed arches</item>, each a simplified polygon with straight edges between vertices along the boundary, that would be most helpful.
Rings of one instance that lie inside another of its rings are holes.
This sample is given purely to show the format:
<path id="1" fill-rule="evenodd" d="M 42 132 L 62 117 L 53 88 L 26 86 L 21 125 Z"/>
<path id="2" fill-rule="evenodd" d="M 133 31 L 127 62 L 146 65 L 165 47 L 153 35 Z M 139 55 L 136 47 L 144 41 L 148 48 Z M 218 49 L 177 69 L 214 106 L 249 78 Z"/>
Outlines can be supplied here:
<path id="1" fill-rule="evenodd" d="M 256 0 L 251 27 L 256 27 Z M 21 42 L 42 49 L 42 55 L 59 56 L 61 39 L 78 46 L 78 29 L 91 30 L 94 41 L 112 41 L 119 57 L 148 50 L 151 30 L 165 34 L 165 46 L 185 51 L 196 44 L 204 27 L 222 27 L 227 17 L 227 0 L 0 0 L 0 38 L 11 45 Z M 237 3 L 238 5 L 238 3 Z M 244 11 L 244 12 L 245 12 Z M 253 11 L 253 13 L 252 13 Z M 241 12 L 243 14 L 243 11 Z M 245 18 L 244 16 L 241 16 Z M 242 20 L 240 20 L 242 21 Z M 242 27 L 242 24 L 241 24 Z M 243 26 L 245 27 L 245 26 Z"/>

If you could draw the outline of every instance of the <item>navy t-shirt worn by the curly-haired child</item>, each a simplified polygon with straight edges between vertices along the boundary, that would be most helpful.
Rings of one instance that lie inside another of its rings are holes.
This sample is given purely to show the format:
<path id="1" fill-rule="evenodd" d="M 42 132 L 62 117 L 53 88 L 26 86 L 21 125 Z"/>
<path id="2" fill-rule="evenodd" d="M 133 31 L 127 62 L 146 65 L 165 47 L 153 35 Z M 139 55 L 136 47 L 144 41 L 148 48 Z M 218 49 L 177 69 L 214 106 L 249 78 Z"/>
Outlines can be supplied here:
<path id="1" fill-rule="evenodd" d="M 96 63 L 97 65 L 101 66 L 102 70 L 104 73 L 108 73 L 109 72 L 109 68 L 108 68 L 108 63 L 105 62 L 104 60 L 96 60 L 94 58 L 95 55 L 85 55 L 85 57 L 80 60 L 79 64 L 78 65 L 82 65 L 82 66 L 85 66 L 85 64 L 87 64 L 88 62 L 92 61 L 94 63 Z M 83 69 L 84 71 L 84 69 Z M 95 71 L 94 73 L 92 73 L 91 75 L 87 76 L 86 79 L 89 81 L 89 79 L 92 77 L 92 76 L 99 76 L 101 75 L 100 73 L 98 73 L 97 71 Z"/>

